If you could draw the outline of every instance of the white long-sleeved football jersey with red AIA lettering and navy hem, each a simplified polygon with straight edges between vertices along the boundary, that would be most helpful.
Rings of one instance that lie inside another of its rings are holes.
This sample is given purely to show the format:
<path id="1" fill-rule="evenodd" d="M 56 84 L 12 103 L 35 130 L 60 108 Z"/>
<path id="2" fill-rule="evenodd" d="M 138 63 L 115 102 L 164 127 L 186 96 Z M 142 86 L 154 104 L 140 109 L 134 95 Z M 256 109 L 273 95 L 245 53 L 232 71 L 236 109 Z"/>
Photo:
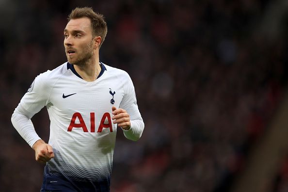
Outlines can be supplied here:
<path id="1" fill-rule="evenodd" d="M 109 192 L 117 128 L 111 119 L 112 106 L 130 116 L 131 128 L 123 130 L 125 137 L 136 141 L 142 135 L 144 123 L 128 73 L 100 65 L 101 72 L 92 82 L 81 79 L 69 63 L 40 74 L 12 116 L 17 131 L 32 146 L 40 137 L 29 122 L 21 127 L 17 114 L 31 121 L 47 107 L 48 144 L 55 157 L 46 163 L 42 191 Z"/>

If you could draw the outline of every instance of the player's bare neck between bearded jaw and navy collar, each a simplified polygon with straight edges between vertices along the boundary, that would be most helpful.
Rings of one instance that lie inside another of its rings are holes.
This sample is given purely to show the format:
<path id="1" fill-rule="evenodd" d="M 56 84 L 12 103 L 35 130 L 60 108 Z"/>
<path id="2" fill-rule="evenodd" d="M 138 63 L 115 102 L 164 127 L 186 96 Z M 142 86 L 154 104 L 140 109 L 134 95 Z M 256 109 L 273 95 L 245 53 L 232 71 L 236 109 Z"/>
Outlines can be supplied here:
<path id="1" fill-rule="evenodd" d="M 81 65 L 74 64 L 74 68 L 83 80 L 88 82 L 95 81 L 101 71 L 99 57 L 91 57 L 87 62 Z"/>

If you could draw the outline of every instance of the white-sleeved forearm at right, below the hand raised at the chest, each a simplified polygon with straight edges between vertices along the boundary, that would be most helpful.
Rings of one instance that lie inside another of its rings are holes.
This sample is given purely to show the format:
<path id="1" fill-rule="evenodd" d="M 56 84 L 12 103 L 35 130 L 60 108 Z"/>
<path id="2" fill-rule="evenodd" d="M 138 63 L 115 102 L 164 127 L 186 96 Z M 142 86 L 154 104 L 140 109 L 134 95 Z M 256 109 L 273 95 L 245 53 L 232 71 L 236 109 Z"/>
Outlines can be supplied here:
<path id="1" fill-rule="evenodd" d="M 124 130 L 124 135 L 127 139 L 132 140 L 132 141 L 137 141 L 140 139 L 143 130 L 144 130 L 144 122 L 143 120 L 131 120 L 131 127 L 128 130 Z"/>

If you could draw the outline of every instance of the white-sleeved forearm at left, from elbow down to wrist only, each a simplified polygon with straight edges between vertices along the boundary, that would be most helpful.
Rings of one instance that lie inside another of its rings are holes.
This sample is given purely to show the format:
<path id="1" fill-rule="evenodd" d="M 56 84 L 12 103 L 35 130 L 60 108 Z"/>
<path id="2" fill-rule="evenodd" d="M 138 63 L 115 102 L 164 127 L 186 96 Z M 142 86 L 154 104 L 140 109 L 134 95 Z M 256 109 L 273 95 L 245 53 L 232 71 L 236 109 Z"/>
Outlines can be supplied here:
<path id="1" fill-rule="evenodd" d="M 18 106 L 12 114 L 11 122 L 21 137 L 32 147 L 41 138 L 36 133 L 32 121 L 28 117 L 29 114 L 24 113 L 24 109 Z"/>

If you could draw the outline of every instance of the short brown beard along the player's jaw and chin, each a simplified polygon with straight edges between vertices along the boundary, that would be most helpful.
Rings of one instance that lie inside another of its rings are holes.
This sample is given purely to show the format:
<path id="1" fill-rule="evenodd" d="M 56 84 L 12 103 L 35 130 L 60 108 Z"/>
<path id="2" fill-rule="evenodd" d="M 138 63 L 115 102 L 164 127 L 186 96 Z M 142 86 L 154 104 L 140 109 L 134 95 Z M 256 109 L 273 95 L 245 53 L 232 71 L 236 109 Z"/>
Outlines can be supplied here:
<path id="1" fill-rule="evenodd" d="M 78 66 L 86 64 L 93 56 L 93 41 L 88 43 L 82 51 L 77 51 L 76 54 L 77 55 L 73 56 L 68 56 L 68 54 L 66 54 L 68 62 Z"/>

